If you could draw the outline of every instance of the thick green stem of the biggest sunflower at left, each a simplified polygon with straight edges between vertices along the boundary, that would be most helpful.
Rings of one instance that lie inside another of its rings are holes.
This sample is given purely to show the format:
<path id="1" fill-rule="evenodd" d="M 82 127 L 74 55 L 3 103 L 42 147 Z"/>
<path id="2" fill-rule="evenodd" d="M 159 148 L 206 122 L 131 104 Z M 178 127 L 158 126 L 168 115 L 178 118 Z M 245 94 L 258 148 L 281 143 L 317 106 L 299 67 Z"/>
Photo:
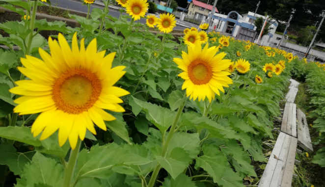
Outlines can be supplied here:
<path id="1" fill-rule="evenodd" d="M 73 171 L 75 170 L 75 166 L 77 163 L 80 145 L 81 145 L 81 139 L 78 138 L 76 148 L 74 150 L 71 150 L 68 166 L 64 170 L 64 178 L 63 178 L 62 187 L 70 187 L 70 185 L 71 185 L 71 179 L 72 179 Z"/>

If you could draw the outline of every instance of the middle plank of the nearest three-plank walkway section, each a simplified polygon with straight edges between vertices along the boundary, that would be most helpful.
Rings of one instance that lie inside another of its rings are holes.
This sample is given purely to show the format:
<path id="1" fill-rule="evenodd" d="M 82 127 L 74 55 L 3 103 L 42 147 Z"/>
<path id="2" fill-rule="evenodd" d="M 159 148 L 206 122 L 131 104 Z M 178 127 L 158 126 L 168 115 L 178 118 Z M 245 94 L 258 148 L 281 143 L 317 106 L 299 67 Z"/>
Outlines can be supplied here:
<path id="1" fill-rule="evenodd" d="M 286 161 L 288 158 L 291 139 L 292 139 L 292 136 L 286 134 L 284 141 L 283 141 L 281 151 L 280 151 L 280 155 L 278 157 L 279 160 L 276 162 L 276 166 L 275 166 L 274 173 L 273 173 L 273 176 L 271 179 L 270 187 L 278 187 L 282 182 L 282 177 L 283 177 Z"/>

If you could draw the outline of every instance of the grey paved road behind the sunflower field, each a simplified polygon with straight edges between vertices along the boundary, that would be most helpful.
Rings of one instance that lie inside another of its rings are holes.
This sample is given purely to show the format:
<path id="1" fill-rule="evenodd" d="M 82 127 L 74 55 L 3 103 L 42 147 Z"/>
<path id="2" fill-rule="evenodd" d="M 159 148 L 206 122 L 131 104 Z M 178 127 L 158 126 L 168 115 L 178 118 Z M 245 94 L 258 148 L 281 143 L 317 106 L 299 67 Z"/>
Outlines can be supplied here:
<path id="1" fill-rule="evenodd" d="M 76 11 L 80 11 L 80 12 L 87 12 L 88 11 L 88 7 L 86 5 L 83 5 L 82 6 L 82 2 L 80 1 L 74 1 L 74 0 L 51 0 L 52 4 L 54 5 L 54 3 L 57 3 L 57 6 L 58 7 L 61 7 L 61 8 L 67 8 L 67 9 L 71 9 L 71 10 L 76 10 Z M 90 12 L 93 8 L 101 8 L 103 9 L 103 6 L 101 5 L 98 5 L 98 4 L 95 4 L 95 5 L 91 5 L 90 7 Z M 118 10 L 109 10 L 109 15 L 113 16 L 113 17 L 116 17 L 118 18 L 120 16 L 120 12 Z M 177 20 L 177 23 L 176 23 L 176 27 L 174 27 L 174 29 L 178 29 L 178 30 L 183 30 L 185 29 L 186 27 L 198 27 L 197 25 L 195 24 L 191 24 L 191 23 L 188 23 L 188 22 L 184 22 L 182 21 L 181 22 L 181 26 L 178 26 L 178 22 L 179 20 Z M 145 19 L 140 19 L 136 22 L 140 22 L 142 24 L 145 24 Z"/>

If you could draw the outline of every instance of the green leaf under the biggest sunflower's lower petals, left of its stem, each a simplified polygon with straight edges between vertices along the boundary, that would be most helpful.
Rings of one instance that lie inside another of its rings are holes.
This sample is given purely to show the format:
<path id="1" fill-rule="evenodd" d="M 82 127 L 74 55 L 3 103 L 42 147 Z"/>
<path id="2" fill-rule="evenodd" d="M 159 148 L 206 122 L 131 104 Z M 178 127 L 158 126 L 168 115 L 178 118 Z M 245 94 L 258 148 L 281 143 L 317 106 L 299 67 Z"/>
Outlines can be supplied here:
<path id="1" fill-rule="evenodd" d="M 42 146 L 35 147 L 35 150 L 40 153 L 46 153 L 49 155 L 55 155 L 60 158 L 65 158 L 67 155 L 70 145 L 69 142 L 66 141 L 65 144 L 60 147 L 58 142 L 58 133 L 55 132 L 50 137 L 41 141 Z"/>

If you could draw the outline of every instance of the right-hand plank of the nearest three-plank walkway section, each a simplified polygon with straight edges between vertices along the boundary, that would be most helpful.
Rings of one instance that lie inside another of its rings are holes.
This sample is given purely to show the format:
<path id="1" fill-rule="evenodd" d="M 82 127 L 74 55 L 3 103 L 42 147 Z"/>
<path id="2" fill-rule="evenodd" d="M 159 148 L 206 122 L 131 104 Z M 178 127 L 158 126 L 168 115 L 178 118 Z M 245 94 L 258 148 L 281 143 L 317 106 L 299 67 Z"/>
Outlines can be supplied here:
<path id="1" fill-rule="evenodd" d="M 297 149 L 297 138 L 292 137 L 280 187 L 291 187 L 292 177 L 293 177 L 292 174 L 294 173 L 294 166 L 295 166 L 296 149 Z"/>

